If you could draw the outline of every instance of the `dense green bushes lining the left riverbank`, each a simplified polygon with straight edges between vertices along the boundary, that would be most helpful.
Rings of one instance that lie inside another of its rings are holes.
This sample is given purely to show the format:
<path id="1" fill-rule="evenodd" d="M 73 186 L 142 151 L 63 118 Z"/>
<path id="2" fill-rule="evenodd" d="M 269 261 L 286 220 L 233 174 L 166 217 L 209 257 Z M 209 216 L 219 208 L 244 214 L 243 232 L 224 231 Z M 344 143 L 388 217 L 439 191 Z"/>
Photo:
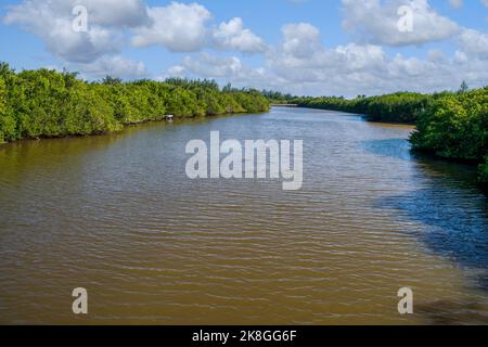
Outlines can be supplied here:
<path id="1" fill-rule="evenodd" d="M 86 82 L 54 70 L 15 73 L 0 64 L 0 142 L 104 133 L 125 125 L 176 117 L 268 111 L 257 90 L 219 89 L 215 81 L 168 79 Z"/>

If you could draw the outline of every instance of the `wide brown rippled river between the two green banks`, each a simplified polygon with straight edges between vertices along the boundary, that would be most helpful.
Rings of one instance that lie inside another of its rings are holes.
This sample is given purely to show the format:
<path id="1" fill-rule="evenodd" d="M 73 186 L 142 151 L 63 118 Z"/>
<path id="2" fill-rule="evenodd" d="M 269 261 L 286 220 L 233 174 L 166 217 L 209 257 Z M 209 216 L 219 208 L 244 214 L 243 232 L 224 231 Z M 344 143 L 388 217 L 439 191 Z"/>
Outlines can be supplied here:
<path id="1" fill-rule="evenodd" d="M 210 130 L 303 139 L 303 190 L 188 179 Z M 487 200 L 411 131 L 277 108 L 0 146 L 0 323 L 486 323 Z"/>

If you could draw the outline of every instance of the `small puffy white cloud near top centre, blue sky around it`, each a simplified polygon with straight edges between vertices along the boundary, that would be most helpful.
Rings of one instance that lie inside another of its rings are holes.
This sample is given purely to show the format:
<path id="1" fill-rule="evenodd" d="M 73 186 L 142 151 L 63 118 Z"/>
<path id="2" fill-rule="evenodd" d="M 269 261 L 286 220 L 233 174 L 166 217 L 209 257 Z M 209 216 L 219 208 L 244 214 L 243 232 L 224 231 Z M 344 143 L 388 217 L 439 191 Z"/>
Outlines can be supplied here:
<path id="1" fill-rule="evenodd" d="M 258 53 L 266 50 L 262 39 L 244 28 L 242 18 L 239 17 L 221 23 L 214 31 L 214 40 L 218 49 L 228 51 Z"/>

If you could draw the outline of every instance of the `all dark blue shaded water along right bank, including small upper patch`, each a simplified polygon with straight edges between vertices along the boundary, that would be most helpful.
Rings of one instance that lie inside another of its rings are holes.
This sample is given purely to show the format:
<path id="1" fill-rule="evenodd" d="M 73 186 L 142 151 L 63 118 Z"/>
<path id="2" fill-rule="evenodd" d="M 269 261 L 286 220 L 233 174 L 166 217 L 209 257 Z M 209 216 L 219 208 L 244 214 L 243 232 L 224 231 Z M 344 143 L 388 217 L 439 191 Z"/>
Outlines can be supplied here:
<path id="1" fill-rule="evenodd" d="M 402 139 L 367 141 L 364 149 L 416 162 L 423 187 L 383 197 L 377 201 L 378 208 L 399 210 L 401 216 L 428 226 L 418 235 L 425 245 L 462 267 L 483 270 L 478 284 L 488 291 L 488 200 L 476 187 L 476 169 L 412 153 Z"/>

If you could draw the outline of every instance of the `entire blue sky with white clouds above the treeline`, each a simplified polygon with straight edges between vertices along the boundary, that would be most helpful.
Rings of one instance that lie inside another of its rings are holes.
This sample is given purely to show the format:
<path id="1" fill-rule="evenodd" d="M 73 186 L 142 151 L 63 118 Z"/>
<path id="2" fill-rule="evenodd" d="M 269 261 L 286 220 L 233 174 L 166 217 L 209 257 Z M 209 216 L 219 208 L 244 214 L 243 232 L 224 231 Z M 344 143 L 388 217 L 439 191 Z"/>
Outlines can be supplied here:
<path id="1" fill-rule="evenodd" d="M 0 61 L 300 95 L 488 85 L 488 0 L 4 0 Z"/>

